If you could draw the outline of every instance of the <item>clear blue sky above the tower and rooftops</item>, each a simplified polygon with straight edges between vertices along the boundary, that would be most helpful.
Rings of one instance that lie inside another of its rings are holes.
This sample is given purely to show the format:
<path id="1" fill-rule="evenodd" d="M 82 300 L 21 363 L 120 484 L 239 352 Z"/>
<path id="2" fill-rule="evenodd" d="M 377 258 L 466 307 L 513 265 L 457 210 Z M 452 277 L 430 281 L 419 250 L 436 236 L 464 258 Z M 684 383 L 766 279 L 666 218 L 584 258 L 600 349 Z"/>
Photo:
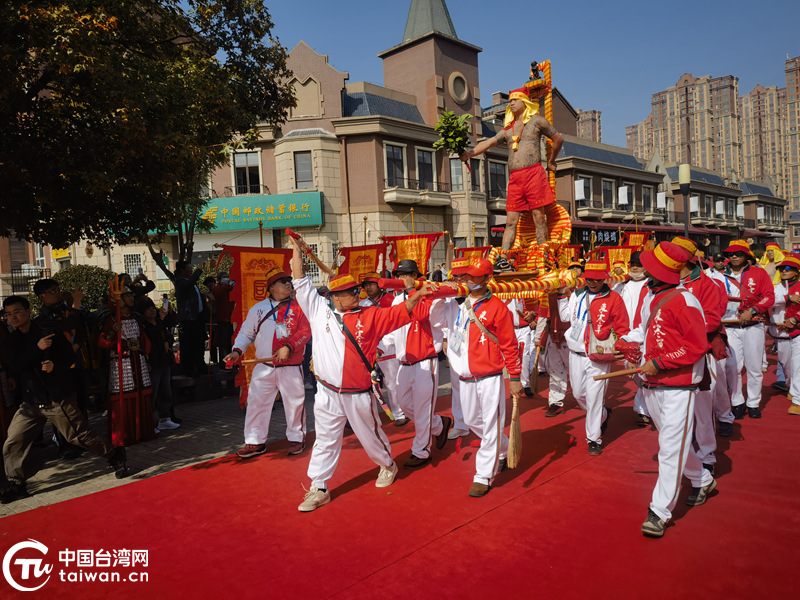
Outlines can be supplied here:
<path id="1" fill-rule="evenodd" d="M 350 81 L 383 84 L 377 54 L 402 41 L 411 0 L 266 0 L 280 42 L 305 41 Z M 784 87 L 786 55 L 800 56 L 797 0 L 610 2 L 447 0 L 456 34 L 483 48 L 481 103 L 519 87 L 531 60 L 550 59 L 553 82 L 575 108 L 603 113 L 603 141 L 625 145 L 650 97 L 689 72 Z M 514 15 L 514 7 L 520 15 Z"/>

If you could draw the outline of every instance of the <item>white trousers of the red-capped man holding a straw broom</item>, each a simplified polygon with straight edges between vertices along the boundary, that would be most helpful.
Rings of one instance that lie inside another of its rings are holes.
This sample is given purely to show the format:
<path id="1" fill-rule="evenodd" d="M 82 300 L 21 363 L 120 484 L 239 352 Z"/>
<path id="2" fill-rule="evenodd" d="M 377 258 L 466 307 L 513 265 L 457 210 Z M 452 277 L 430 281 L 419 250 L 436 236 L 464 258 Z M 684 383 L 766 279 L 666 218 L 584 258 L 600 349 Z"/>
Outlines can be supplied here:
<path id="1" fill-rule="evenodd" d="M 502 375 L 461 382 L 464 420 L 481 439 L 481 447 L 475 454 L 473 481 L 476 483 L 491 485 L 500 460 L 508 452 L 508 436 L 503 433 L 506 423 L 505 394 Z"/>

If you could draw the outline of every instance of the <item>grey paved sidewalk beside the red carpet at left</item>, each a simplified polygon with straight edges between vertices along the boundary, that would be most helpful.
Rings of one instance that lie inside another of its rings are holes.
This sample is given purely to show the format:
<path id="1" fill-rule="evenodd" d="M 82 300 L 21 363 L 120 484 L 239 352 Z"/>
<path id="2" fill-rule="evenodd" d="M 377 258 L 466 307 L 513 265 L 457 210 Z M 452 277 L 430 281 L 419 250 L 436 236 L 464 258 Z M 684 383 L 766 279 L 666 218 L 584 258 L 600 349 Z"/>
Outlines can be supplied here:
<path id="1" fill-rule="evenodd" d="M 440 363 L 439 395 L 450 393 L 450 369 Z M 198 381 L 198 396 L 208 396 L 207 384 Z M 79 498 L 94 492 L 127 485 L 140 479 L 175 471 L 189 465 L 227 456 L 244 443 L 244 410 L 239 408 L 238 390 L 228 396 L 177 404 L 176 415 L 182 419 L 180 429 L 162 431 L 157 439 L 128 448 L 128 466 L 132 475 L 117 479 L 102 459 L 85 452 L 80 458 L 58 458 L 58 449 L 52 443 L 52 427 L 45 425 L 44 448 L 34 447 L 29 457 L 31 476 L 28 491 L 31 497 L 11 504 L 0 504 L 0 518 L 48 506 L 64 500 Z M 306 393 L 308 432 L 314 431 L 314 392 Z M 98 433 L 104 433 L 106 419 L 101 414 L 89 415 L 89 424 Z M 286 439 L 286 419 L 283 405 L 275 403 L 270 421 L 267 442 Z M 267 449 L 269 452 L 269 447 Z M 310 447 L 305 455 L 309 456 Z"/>

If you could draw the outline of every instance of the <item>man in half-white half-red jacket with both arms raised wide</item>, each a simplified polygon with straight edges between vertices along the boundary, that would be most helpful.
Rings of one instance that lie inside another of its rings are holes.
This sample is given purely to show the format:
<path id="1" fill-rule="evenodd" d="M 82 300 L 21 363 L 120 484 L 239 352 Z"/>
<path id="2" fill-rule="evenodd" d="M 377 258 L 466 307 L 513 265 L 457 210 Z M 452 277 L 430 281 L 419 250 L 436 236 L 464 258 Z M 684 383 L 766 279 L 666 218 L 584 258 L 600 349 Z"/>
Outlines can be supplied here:
<path id="1" fill-rule="evenodd" d="M 328 285 L 331 307 L 303 274 L 300 244 L 306 247 L 302 240 L 292 238 L 292 275 L 297 303 L 311 325 L 314 370 L 320 384 L 314 402 L 317 439 L 308 464 L 311 489 L 298 506 L 301 512 L 309 512 L 331 501 L 328 481 L 339 462 L 346 422 L 380 467 L 375 486 L 388 487 L 394 482 L 397 465 L 370 395 L 370 371 L 381 338 L 410 323 L 414 307 L 430 289 L 423 286 L 391 308 L 365 308 L 359 306 L 358 282 L 351 275 L 337 275 Z"/>

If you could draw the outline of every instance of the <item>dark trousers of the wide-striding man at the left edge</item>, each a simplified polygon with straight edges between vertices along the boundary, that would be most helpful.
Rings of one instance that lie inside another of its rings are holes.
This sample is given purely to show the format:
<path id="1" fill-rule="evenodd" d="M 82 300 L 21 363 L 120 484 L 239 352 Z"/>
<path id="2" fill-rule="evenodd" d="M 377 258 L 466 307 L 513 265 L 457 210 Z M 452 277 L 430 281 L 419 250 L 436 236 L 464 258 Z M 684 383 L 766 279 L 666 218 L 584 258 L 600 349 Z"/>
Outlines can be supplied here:
<path id="1" fill-rule="evenodd" d="M 107 439 L 89 429 L 89 423 L 78 408 L 74 395 L 43 407 L 23 402 L 11 419 L 3 444 L 3 463 L 6 477 L 11 483 L 25 483 L 25 459 L 47 421 L 61 432 L 67 442 L 85 448 L 92 454 L 105 457 L 113 450 Z"/>

